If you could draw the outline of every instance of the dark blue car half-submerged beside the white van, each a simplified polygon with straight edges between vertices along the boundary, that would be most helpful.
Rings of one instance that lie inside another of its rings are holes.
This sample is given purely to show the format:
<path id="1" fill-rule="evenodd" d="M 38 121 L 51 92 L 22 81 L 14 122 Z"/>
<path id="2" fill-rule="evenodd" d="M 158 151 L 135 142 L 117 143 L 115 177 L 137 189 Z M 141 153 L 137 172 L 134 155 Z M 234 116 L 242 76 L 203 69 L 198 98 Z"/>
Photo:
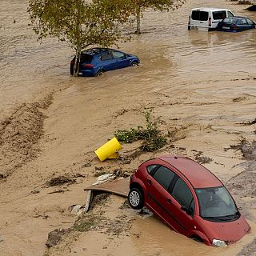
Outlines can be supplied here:
<path id="1" fill-rule="evenodd" d="M 234 16 L 224 18 L 222 22 L 218 23 L 217 30 L 219 31 L 229 31 L 238 32 L 243 30 L 250 30 L 255 28 L 255 22 L 250 20 L 250 18 Z"/>

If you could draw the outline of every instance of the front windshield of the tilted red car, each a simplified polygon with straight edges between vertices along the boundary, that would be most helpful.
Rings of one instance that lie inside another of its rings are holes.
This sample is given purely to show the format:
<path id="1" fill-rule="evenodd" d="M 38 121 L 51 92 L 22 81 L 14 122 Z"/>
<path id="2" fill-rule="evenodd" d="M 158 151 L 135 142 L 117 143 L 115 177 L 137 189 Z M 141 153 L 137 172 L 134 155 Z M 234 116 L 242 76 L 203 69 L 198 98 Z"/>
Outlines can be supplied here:
<path id="1" fill-rule="evenodd" d="M 202 218 L 228 221 L 240 216 L 225 186 L 195 190 Z"/>

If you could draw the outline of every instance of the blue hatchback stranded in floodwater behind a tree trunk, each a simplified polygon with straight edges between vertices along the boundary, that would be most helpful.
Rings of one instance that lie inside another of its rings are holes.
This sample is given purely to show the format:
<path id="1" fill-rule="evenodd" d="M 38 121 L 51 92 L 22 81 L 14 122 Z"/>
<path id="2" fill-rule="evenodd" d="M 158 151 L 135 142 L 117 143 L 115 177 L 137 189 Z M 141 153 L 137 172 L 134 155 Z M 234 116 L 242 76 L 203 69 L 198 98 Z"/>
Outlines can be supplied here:
<path id="1" fill-rule="evenodd" d="M 75 57 L 70 62 L 70 74 L 74 74 Z M 139 58 L 119 50 L 109 48 L 91 48 L 83 50 L 80 58 L 79 76 L 98 76 L 109 70 L 126 66 L 138 66 Z"/>

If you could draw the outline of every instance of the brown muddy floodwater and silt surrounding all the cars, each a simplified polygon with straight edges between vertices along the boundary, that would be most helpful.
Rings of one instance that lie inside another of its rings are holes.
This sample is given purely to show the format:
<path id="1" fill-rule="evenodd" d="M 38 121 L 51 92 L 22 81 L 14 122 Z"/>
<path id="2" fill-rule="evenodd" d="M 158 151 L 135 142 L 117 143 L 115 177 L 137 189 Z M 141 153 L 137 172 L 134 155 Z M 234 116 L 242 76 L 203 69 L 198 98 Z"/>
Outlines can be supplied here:
<path id="1" fill-rule="evenodd" d="M 1 254 L 234 256 L 252 242 L 256 185 L 250 186 L 255 171 L 248 166 L 255 159 L 249 164 L 230 146 L 242 137 L 255 138 L 255 124 L 245 124 L 256 118 L 256 30 L 189 31 L 187 22 L 191 8 L 201 6 L 228 8 L 254 21 L 256 14 L 224 0 L 187 0 L 168 13 L 146 10 L 142 34 L 120 45 L 138 55 L 140 66 L 73 78 L 74 50 L 53 38 L 37 42 L 27 26 L 27 5 L 26 0 L 0 1 Z M 115 130 L 142 125 L 145 109 L 161 116 L 163 131 L 176 129 L 174 140 L 159 152 L 139 155 L 131 154 L 139 142 L 124 144 L 121 154 L 129 162 L 98 162 L 94 150 Z M 198 152 L 211 159 L 204 166 L 227 184 L 250 223 L 252 230 L 241 241 L 222 249 L 205 246 L 154 216 L 123 209 L 124 199 L 111 196 L 94 210 L 95 216 L 103 211 L 109 224 L 71 231 L 46 250 L 50 231 L 74 225 L 77 218 L 68 209 L 84 202 L 83 188 L 98 170 L 132 173 L 156 154 L 196 158 Z M 51 178 L 63 175 L 74 182 L 49 186 Z M 245 255 L 256 254 L 251 252 Z"/>

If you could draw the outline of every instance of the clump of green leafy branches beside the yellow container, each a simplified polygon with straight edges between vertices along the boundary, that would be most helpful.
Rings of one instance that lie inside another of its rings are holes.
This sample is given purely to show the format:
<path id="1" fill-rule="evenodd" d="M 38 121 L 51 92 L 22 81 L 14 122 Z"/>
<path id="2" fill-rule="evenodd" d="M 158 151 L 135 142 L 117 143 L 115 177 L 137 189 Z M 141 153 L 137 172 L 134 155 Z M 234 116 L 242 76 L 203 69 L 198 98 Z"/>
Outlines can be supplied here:
<path id="1" fill-rule="evenodd" d="M 138 140 L 143 140 L 142 151 L 152 152 L 161 149 L 166 145 L 166 137 L 162 136 L 161 131 L 158 129 L 160 118 L 154 121 L 151 118 L 151 111 L 145 113 L 146 127 L 138 126 L 130 130 L 117 130 L 114 136 L 119 142 L 131 143 Z"/>

